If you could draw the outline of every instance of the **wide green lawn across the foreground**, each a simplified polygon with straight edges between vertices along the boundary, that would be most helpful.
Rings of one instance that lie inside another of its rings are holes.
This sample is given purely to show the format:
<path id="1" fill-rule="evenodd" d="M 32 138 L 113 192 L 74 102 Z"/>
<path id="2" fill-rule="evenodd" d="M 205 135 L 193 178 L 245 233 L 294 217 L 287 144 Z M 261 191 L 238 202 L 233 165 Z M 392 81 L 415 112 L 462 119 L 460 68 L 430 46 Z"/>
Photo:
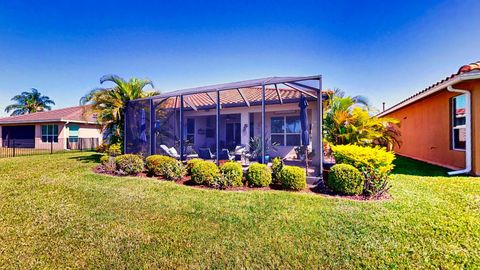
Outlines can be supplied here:
<path id="1" fill-rule="evenodd" d="M 92 153 L 0 160 L 0 268 L 479 268 L 480 180 L 397 161 L 389 201 L 100 176 Z"/>

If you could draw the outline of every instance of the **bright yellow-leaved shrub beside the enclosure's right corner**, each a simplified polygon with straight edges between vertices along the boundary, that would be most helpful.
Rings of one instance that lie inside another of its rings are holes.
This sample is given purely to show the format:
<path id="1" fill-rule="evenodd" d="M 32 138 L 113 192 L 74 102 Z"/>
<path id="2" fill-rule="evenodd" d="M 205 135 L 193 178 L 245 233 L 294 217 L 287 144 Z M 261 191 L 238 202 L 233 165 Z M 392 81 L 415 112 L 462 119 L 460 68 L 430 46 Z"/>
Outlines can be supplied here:
<path id="1" fill-rule="evenodd" d="M 385 148 L 364 147 L 358 145 L 334 145 L 333 156 L 337 164 L 350 164 L 362 170 L 362 168 L 376 169 L 380 173 L 389 173 L 393 169 L 395 155 Z"/>

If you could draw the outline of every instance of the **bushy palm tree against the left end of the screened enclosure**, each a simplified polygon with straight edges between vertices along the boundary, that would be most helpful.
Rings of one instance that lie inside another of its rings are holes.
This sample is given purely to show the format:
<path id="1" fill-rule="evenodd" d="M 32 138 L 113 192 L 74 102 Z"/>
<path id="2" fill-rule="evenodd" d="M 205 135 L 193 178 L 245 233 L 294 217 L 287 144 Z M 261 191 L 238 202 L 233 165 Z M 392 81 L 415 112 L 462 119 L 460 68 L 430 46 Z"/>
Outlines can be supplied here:
<path id="1" fill-rule="evenodd" d="M 80 99 L 80 104 L 91 106 L 87 114 L 95 114 L 110 144 L 123 144 L 125 106 L 128 101 L 158 95 L 156 91 L 145 91 L 153 83 L 150 80 L 131 78 L 129 81 L 116 75 L 105 75 L 100 84 L 112 82 L 110 88 L 96 88 Z M 123 149 L 123 147 L 122 147 Z"/>

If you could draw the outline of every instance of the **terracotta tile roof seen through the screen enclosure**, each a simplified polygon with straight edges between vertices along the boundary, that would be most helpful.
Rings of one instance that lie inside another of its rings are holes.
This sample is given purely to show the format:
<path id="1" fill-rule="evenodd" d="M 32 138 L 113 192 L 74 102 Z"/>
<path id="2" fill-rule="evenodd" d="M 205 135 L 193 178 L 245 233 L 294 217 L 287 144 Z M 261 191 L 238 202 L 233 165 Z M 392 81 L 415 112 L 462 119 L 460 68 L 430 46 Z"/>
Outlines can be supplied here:
<path id="1" fill-rule="evenodd" d="M 250 88 L 241 89 L 245 98 L 252 106 L 261 104 L 262 102 L 261 90 L 262 89 L 260 87 L 250 87 Z M 298 102 L 298 99 L 302 95 L 301 92 L 295 89 L 279 88 L 278 90 L 284 103 Z M 316 94 L 315 91 L 311 91 L 311 90 L 305 90 L 305 91 L 313 95 Z M 209 94 L 207 93 L 192 94 L 184 97 L 184 101 L 186 103 L 185 108 L 190 108 L 189 103 L 200 109 L 213 108 L 216 106 L 215 105 L 216 103 L 214 102 L 216 100 L 217 100 L 216 92 L 210 92 Z M 274 88 L 265 89 L 265 101 L 267 103 L 279 103 L 277 91 Z M 245 101 L 243 100 L 238 90 L 221 91 L 220 103 L 223 107 L 245 106 Z M 163 104 L 163 108 L 174 108 L 174 107 L 176 108 L 180 107 L 180 99 L 170 97 Z"/>

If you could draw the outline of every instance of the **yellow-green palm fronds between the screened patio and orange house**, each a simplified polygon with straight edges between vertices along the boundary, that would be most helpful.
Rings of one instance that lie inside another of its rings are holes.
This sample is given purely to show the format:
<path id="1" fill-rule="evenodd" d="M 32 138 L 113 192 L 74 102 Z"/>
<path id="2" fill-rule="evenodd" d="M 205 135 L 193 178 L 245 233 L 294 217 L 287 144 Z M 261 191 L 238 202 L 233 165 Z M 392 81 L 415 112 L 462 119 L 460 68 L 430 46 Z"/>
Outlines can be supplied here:
<path id="1" fill-rule="evenodd" d="M 345 96 L 338 90 L 330 92 L 324 117 L 325 138 L 334 145 L 381 145 L 389 149 L 400 145 L 399 121 L 371 114 L 365 98 Z"/>

